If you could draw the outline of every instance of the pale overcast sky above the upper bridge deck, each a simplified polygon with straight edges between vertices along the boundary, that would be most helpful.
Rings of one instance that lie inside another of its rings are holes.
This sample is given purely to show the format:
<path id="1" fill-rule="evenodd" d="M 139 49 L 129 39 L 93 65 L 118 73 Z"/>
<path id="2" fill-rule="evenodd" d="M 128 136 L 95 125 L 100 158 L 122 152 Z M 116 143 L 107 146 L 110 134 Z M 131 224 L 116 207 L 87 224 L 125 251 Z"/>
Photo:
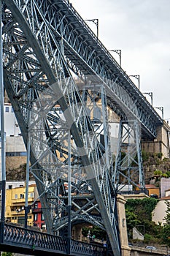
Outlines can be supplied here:
<path id="1" fill-rule="evenodd" d="M 108 50 L 121 49 L 124 71 L 140 76 L 140 91 L 152 92 L 153 107 L 163 107 L 170 122 L 170 0 L 70 2 L 83 19 L 98 18 L 101 42 Z M 96 25 L 87 23 L 96 33 Z M 112 54 L 119 62 L 117 53 Z M 138 80 L 131 79 L 138 86 Z"/>

